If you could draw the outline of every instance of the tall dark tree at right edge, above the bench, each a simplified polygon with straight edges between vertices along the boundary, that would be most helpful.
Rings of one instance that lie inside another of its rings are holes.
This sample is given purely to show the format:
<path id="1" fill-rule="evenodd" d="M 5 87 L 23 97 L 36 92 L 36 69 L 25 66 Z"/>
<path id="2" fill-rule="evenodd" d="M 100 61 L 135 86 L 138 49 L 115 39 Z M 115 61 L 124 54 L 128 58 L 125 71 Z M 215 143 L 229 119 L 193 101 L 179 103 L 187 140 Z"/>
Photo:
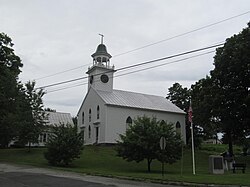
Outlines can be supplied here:
<path id="1" fill-rule="evenodd" d="M 216 50 L 213 81 L 213 113 L 227 135 L 229 152 L 233 141 L 250 134 L 250 22 L 239 34 Z"/>

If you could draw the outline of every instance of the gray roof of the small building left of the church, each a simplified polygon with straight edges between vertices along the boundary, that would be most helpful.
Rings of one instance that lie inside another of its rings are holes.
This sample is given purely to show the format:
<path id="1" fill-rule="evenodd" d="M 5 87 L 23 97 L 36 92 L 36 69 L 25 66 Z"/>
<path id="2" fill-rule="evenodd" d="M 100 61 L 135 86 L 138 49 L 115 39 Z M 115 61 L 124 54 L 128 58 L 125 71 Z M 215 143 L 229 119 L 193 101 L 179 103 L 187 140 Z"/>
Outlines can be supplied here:
<path id="1" fill-rule="evenodd" d="M 47 124 L 46 125 L 60 125 L 60 124 L 73 124 L 73 120 L 71 118 L 70 113 L 62 113 L 62 112 L 48 112 L 47 114 Z"/>

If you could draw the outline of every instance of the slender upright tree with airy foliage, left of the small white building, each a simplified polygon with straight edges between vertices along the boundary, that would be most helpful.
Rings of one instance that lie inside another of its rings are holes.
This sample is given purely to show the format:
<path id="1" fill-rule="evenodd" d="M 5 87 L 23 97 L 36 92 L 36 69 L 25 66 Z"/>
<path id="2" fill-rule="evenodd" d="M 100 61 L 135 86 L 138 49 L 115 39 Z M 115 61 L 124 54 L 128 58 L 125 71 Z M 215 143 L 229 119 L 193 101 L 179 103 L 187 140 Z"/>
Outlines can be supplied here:
<path id="1" fill-rule="evenodd" d="M 38 136 L 45 124 L 45 111 L 43 110 L 42 97 L 45 92 L 35 89 L 35 82 L 27 82 L 24 88 L 25 99 L 22 105 L 22 123 L 19 125 L 18 141 L 25 145 L 37 143 Z"/>

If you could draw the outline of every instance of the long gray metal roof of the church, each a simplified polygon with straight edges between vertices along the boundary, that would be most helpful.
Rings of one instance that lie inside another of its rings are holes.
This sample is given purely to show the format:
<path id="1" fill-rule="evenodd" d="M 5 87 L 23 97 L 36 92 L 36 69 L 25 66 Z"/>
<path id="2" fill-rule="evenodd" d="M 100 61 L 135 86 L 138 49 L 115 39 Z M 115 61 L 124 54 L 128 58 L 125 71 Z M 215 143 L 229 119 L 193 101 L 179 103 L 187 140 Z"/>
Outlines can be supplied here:
<path id="1" fill-rule="evenodd" d="M 113 90 L 113 92 L 96 90 L 96 92 L 107 105 L 185 114 L 183 110 L 161 96 L 123 90 Z"/>

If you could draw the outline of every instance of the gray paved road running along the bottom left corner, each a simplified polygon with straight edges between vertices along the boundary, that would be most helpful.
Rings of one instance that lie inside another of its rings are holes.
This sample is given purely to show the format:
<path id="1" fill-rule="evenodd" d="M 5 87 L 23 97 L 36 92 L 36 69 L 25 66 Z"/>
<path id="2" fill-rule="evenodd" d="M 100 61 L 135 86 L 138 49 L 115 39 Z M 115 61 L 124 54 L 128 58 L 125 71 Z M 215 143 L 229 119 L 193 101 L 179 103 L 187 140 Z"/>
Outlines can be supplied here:
<path id="1" fill-rule="evenodd" d="M 0 163 L 0 187 L 170 187 Z M 176 186 L 175 186 L 176 187 Z"/>

